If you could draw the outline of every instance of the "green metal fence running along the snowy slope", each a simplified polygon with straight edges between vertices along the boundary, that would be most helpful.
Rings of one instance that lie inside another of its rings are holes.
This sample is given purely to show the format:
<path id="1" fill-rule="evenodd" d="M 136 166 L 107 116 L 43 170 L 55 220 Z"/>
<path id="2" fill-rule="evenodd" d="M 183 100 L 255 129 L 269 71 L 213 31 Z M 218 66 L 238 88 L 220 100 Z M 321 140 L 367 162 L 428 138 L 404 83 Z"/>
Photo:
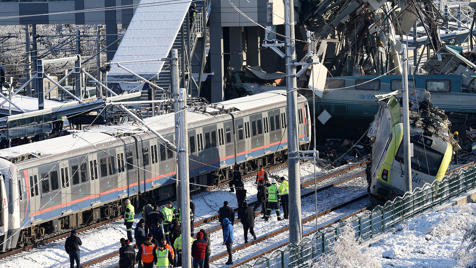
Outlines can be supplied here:
<path id="1" fill-rule="evenodd" d="M 259 257 L 253 265 L 244 264 L 242 268 L 303 268 L 309 266 L 314 258 L 327 252 L 329 245 L 337 240 L 338 235 L 348 224 L 355 230 L 355 237 L 360 241 L 372 241 L 374 237 L 397 227 L 405 219 L 420 215 L 427 209 L 466 194 L 476 188 L 476 164 L 462 167 L 446 175 L 441 182 L 426 184 L 413 193 L 406 193 L 388 201 L 384 206 L 377 206 L 372 211 L 364 211 L 351 216 L 330 227 L 305 234 L 299 245 L 289 244 Z"/>

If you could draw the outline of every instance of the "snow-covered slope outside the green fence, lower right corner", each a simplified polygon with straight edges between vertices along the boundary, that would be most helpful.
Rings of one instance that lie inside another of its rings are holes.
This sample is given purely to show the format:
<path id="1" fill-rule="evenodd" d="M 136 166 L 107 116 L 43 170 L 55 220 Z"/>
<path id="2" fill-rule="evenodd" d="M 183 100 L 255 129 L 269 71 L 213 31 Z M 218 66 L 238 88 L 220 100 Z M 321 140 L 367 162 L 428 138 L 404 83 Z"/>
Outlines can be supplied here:
<path id="1" fill-rule="evenodd" d="M 377 260 L 384 268 L 457 267 L 454 253 L 467 245 L 462 244 L 463 235 L 476 222 L 474 211 L 476 204 L 471 203 L 428 212 L 405 221 L 395 234 L 385 235 L 369 249 L 377 250 Z"/>

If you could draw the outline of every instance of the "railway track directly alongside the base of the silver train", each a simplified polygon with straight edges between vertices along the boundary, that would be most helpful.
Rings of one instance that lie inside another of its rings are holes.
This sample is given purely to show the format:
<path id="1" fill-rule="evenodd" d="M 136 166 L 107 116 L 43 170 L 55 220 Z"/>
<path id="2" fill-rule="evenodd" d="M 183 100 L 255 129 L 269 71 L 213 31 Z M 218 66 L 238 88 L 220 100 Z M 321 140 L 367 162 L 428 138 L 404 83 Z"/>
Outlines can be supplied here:
<path id="1" fill-rule="evenodd" d="M 274 166 L 271 166 L 269 167 L 268 169 L 269 170 L 274 170 L 276 168 L 280 168 L 280 167 L 283 167 L 283 166 L 286 166 L 288 165 L 288 162 L 286 163 L 282 163 L 282 164 L 278 164 L 278 165 L 274 165 Z M 247 175 L 244 175 L 243 178 L 248 178 L 248 177 L 251 177 L 251 176 L 254 176 L 256 175 L 257 172 L 252 172 L 252 173 L 249 173 Z M 215 187 L 217 186 L 225 186 L 225 185 L 228 185 L 229 183 L 229 180 L 228 181 L 224 181 L 222 183 L 219 183 L 218 185 L 215 185 L 215 186 L 210 186 L 210 187 L 205 187 L 205 188 L 200 188 L 200 189 L 197 189 L 197 190 L 194 190 L 194 191 L 191 191 L 190 192 L 190 195 L 197 195 L 197 194 L 200 194 L 200 193 L 203 193 L 203 192 L 206 192 L 206 191 L 209 191 L 211 189 L 214 189 Z M 168 200 L 165 200 L 165 201 L 174 201 L 176 200 L 176 198 L 171 198 L 171 199 L 168 199 Z M 139 210 L 136 210 L 136 213 L 140 213 L 142 210 L 139 209 Z M 76 226 L 75 228 L 68 228 L 68 229 L 64 229 L 64 230 L 61 230 L 61 232 L 59 233 L 54 233 L 54 234 L 47 234 L 45 235 L 45 237 L 43 237 L 41 240 L 35 242 L 35 243 L 32 243 L 30 245 L 27 245 L 27 246 L 24 246 L 24 247 L 19 247 L 19 248 L 15 248 L 13 250 L 10 250 L 8 252 L 4 252 L 4 253 L 1 253 L 0 254 L 0 258 L 5 258 L 5 257 L 8 257 L 8 256 L 12 256 L 14 254 L 18 254 L 20 252 L 23 252 L 25 250 L 29 250 L 29 249 L 32 249 L 32 248 L 35 248 L 35 247 L 39 247 L 39 246 L 43 246 L 47 243 L 50 243 L 50 242 L 53 242 L 55 240 L 59 240 L 61 238 L 65 238 L 65 237 L 69 237 L 70 235 L 70 232 L 72 230 L 76 230 L 77 233 L 80 233 L 80 232 L 84 232 L 86 230 L 89 230 L 89 229 L 92 229 L 92 228 L 96 228 L 96 227 L 100 227 L 102 225 L 105 225 L 105 224 L 108 224 L 110 222 L 113 222 L 113 221 L 117 221 L 119 219 L 122 219 L 123 216 L 118 216 L 118 217 L 114 217 L 114 218 L 111 218 L 111 219 L 108 219 L 108 220 L 104 220 L 104 221 L 101 221 L 101 222 L 97 222 L 97 223 L 93 223 L 93 224 L 89 224 L 89 225 L 86 225 L 86 224 L 83 224 L 83 225 L 79 225 L 79 226 Z M 204 222 L 207 222 L 209 219 L 206 218 L 206 219 L 203 219 L 203 220 L 200 220 L 196 223 L 194 223 L 194 226 L 198 226 L 200 224 L 203 224 Z"/>

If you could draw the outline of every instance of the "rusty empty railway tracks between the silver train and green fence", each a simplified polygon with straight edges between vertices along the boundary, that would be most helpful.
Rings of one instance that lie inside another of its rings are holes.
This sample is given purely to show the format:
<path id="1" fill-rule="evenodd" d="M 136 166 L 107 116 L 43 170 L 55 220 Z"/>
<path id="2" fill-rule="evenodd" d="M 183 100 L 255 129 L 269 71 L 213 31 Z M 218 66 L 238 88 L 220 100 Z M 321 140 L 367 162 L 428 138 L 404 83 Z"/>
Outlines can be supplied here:
<path id="1" fill-rule="evenodd" d="M 348 181 L 350 181 L 352 179 L 355 179 L 359 176 L 365 175 L 365 172 L 363 172 L 363 170 L 362 170 L 362 169 L 365 170 L 365 168 L 363 168 L 363 167 L 365 167 L 364 166 L 365 164 L 366 164 L 366 162 L 359 163 L 357 165 L 353 165 L 353 166 L 350 166 L 350 167 L 347 167 L 347 168 L 342 168 L 340 170 L 337 170 L 336 172 L 320 176 L 316 180 L 317 181 L 317 192 L 321 192 L 321 191 L 327 190 L 331 187 L 345 184 L 345 183 L 347 183 Z M 303 183 L 301 185 L 302 189 L 307 189 L 307 191 L 305 191 L 301 195 L 301 198 L 305 198 L 305 197 L 310 196 L 310 195 L 312 195 L 316 192 L 316 190 L 314 188 L 314 185 L 313 185 L 314 183 L 315 183 L 315 181 L 313 179 L 313 180 L 308 180 L 308 181 L 306 181 L 305 183 Z M 309 190 L 311 186 L 312 186 L 312 190 Z M 318 213 L 317 217 L 321 217 L 321 216 L 325 216 L 327 214 L 331 214 L 339 208 L 342 208 L 344 206 L 348 206 L 348 204 L 350 204 L 350 203 L 357 202 L 358 200 L 363 199 L 365 196 L 367 196 L 367 195 L 358 196 L 357 198 L 355 198 L 351 201 L 348 201 L 348 202 L 345 202 L 341 205 L 338 205 L 338 206 L 332 207 L 330 209 L 324 210 L 324 211 Z M 254 205 L 254 203 L 256 203 L 256 201 L 249 203 L 249 205 L 252 206 L 252 205 Z M 260 214 L 260 211 L 258 211 L 256 213 L 256 215 L 259 215 L 259 214 Z M 307 223 L 309 221 L 312 221 L 313 219 L 316 219 L 315 214 L 314 214 L 314 216 L 309 216 L 306 219 L 304 219 L 303 223 Z M 337 221 L 338 220 L 340 220 L 340 219 L 337 219 Z M 238 219 L 238 220 L 235 221 L 235 223 L 238 223 L 239 221 L 240 220 Z M 336 219 L 334 219 L 333 223 L 334 222 L 336 222 Z M 221 225 L 218 223 L 218 216 L 208 217 L 207 219 L 196 222 L 194 224 L 194 226 L 196 227 L 196 229 L 201 229 L 201 228 L 205 229 L 207 231 L 207 233 L 213 233 L 213 232 L 216 232 L 216 231 L 221 229 Z M 281 229 L 276 230 L 274 232 L 271 232 L 270 234 L 267 234 L 265 236 L 258 237 L 257 240 L 249 241 L 246 244 L 239 245 L 238 247 L 235 247 L 233 250 L 234 251 L 239 251 L 243 248 L 253 246 L 253 245 L 255 245 L 255 244 L 257 244 L 261 241 L 265 241 L 269 237 L 273 237 L 273 236 L 276 236 L 278 234 L 284 233 L 284 232 L 288 231 L 288 229 L 289 229 L 289 227 L 281 228 Z M 88 262 L 83 263 L 82 267 L 91 267 L 91 268 L 96 268 L 96 267 L 118 267 L 117 266 L 117 262 L 119 260 L 118 254 L 119 254 L 119 252 L 115 251 L 115 252 L 109 253 L 107 255 L 101 256 L 99 258 L 92 259 Z M 210 261 L 221 258 L 223 254 L 226 255 L 227 253 L 226 252 L 220 253 L 219 255 L 214 256 L 213 259 L 210 258 Z M 111 263 L 114 264 L 114 265 L 111 265 Z"/>

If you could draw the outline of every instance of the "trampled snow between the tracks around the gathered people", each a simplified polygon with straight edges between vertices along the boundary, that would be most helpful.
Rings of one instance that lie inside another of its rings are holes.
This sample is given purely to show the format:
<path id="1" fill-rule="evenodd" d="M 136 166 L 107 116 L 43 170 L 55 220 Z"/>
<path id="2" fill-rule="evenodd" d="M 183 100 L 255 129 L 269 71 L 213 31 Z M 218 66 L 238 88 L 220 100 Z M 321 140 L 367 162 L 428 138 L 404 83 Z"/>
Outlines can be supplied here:
<path id="1" fill-rule="evenodd" d="M 304 164 L 302 165 L 301 169 L 301 176 L 303 179 L 306 179 L 305 177 L 310 174 L 310 172 L 314 171 L 314 167 L 312 163 L 310 164 Z M 317 170 L 320 170 L 317 168 Z M 280 174 L 287 174 L 288 170 L 287 167 L 283 167 L 277 172 L 280 172 Z M 245 179 L 245 187 L 247 187 L 248 190 L 248 200 L 249 201 L 254 201 L 256 200 L 256 186 L 254 184 L 255 181 L 255 176 L 251 176 L 248 179 Z M 200 218 L 205 218 L 209 216 L 214 216 L 216 215 L 216 211 L 218 208 L 223 206 L 223 201 L 228 200 L 230 202 L 230 206 L 237 207 L 237 200 L 236 200 L 236 195 L 234 193 L 228 192 L 229 188 L 222 186 L 222 187 L 217 187 L 213 190 L 201 193 L 199 195 L 193 196 L 193 201 L 196 206 L 196 221 Z M 311 198 L 311 197 L 308 197 Z M 314 197 L 312 197 L 314 198 Z M 309 202 L 303 202 L 303 207 L 305 204 L 314 204 L 314 201 L 309 200 Z M 209 206 L 208 206 L 209 205 Z M 141 218 L 141 214 L 136 214 L 136 219 L 135 223 L 137 224 L 139 222 L 139 219 Z M 258 221 L 258 218 L 257 218 Z M 268 225 L 263 224 L 263 228 L 266 226 L 270 225 L 275 225 L 276 224 L 276 216 L 272 217 L 270 219 L 271 223 Z M 263 221 L 264 223 L 264 221 Z M 273 230 L 278 229 L 282 225 L 287 225 L 288 221 L 281 221 L 279 224 L 277 224 L 275 227 L 273 227 Z M 258 225 L 260 225 L 258 223 Z M 135 224 L 133 226 L 135 228 Z M 236 227 L 237 229 L 237 239 L 240 241 L 239 243 L 243 243 L 243 228 Z M 241 233 L 239 233 L 238 229 L 240 229 Z M 261 229 L 261 233 L 263 232 L 270 232 L 268 228 L 266 230 Z M 214 236 L 217 236 L 215 239 L 212 238 L 212 241 L 218 240 L 223 240 L 222 233 L 221 231 L 216 232 Z M 257 232 L 258 234 L 258 232 Z M 81 232 L 78 234 L 78 236 L 82 240 L 82 246 L 80 246 L 81 252 L 80 252 L 80 258 L 81 262 L 85 262 L 94 258 L 98 258 L 101 256 L 104 256 L 110 252 L 116 251 L 119 249 L 119 239 L 121 237 L 127 237 L 126 229 L 124 226 L 124 220 L 118 220 L 109 224 L 106 224 L 101 227 L 97 227 L 94 229 L 90 229 L 84 232 Z M 259 236 L 259 234 L 258 234 Z M 251 240 L 252 237 L 249 238 Z M 44 246 L 40 246 L 37 248 L 33 248 L 27 251 L 24 251 L 22 253 L 2 258 L 1 260 L 1 265 L 0 267 L 3 268 L 63 268 L 63 267 L 69 267 L 69 256 L 66 254 L 64 251 L 64 242 L 66 238 L 56 240 L 54 242 L 48 243 Z M 238 243 L 235 243 L 234 246 L 237 245 Z M 221 243 L 216 243 L 217 245 L 214 244 L 214 254 L 215 252 L 219 251 L 225 251 L 226 249 L 224 248 L 225 246 L 221 246 Z M 219 245 L 218 245 L 219 244 Z M 223 247 L 223 248 L 221 248 Z M 19 261 L 21 260 L 21 261 Z"/>

